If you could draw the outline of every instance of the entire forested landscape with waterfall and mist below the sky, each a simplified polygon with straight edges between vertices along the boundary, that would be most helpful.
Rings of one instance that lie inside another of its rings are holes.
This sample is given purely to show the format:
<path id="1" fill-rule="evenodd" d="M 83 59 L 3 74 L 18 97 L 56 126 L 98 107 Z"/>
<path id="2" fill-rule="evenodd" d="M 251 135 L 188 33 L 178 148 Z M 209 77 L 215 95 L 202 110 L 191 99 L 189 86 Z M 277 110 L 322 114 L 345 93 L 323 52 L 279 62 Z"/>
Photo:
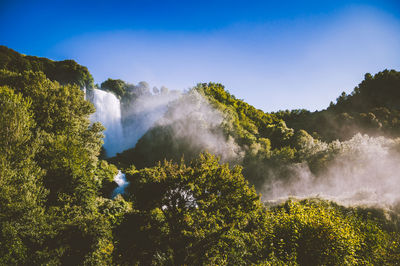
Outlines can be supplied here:
<path id="1" fill-rule="evenodd" d="M 400 261 L 396 70 L 265 113 L 0 46 L 0 108 L 0 265 Z"/>

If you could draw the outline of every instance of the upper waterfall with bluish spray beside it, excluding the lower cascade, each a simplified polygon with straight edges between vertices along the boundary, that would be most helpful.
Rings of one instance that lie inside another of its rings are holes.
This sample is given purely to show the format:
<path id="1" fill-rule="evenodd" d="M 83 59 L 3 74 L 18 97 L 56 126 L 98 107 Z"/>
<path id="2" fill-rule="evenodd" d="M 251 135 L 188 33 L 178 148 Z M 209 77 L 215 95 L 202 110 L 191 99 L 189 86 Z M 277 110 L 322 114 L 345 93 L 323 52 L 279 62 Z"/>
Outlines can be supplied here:
<path id="1" fill-rule="evenodd" d="M 96 112 L 92 122 L 101 122 L 104 131 L 106 157 L 133 148 L 137 141 L 164 115 L 168 104 L 177 99 L 178 91 L 150 93 L 143 87 L 131 85 L 132 97 L 120 101 L 117 96 L 101 89 L 90 92 L 89 100 Z"/>

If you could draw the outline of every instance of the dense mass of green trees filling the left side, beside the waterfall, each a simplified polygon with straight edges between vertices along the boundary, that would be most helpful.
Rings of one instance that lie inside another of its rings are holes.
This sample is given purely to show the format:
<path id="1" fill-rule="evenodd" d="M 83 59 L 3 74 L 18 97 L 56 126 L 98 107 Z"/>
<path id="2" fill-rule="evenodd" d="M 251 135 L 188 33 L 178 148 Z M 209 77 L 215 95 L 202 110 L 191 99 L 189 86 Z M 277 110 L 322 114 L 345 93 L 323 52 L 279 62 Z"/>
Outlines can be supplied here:
<path id="1" fill-rule="evenodd" d="M 114 173 L 98 170 L 103 127 L 90 124 L 93 106 L 42 72 L 0 70 L 0 84 L 1 264 L 110 262 L 100 195 Z"/>

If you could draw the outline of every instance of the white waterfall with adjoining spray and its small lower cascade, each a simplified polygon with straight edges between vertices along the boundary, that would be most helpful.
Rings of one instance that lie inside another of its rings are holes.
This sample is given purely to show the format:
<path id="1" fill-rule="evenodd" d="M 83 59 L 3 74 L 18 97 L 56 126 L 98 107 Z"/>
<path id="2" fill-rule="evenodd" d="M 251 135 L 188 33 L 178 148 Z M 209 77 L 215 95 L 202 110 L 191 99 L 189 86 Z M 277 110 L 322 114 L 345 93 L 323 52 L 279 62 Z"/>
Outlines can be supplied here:
<path id="1" fill-rule="evenodd" d="M 118 152 L 135 146 L 138 139 L 162 117 L 167 109 L 167 104 L 176 99 L 179 93 L 150 96 L 144 95 L 136 99 L 134 105 L 125 108 L 125 116 L 128 118 L 123 127 L 121 119 L 121 104 L 118 98 L 110 92 L 94 89 L 88 94 L 88 99 L 96 107 L 92 115 L 92 122 L 101 122 L 104 131 L 104 149 L 107 157 L 115 156 Z M 85 93 L 86 98 L 86 93 Z M 128 122 L 128 123 L 127 123 Z M 124 135 L 124 130 L 126 135 Z M 111 197 L 124 194 L 129 185 L 125 174 L 118 171 L 114 177 L 118 187 L 114 189 Z"/>

